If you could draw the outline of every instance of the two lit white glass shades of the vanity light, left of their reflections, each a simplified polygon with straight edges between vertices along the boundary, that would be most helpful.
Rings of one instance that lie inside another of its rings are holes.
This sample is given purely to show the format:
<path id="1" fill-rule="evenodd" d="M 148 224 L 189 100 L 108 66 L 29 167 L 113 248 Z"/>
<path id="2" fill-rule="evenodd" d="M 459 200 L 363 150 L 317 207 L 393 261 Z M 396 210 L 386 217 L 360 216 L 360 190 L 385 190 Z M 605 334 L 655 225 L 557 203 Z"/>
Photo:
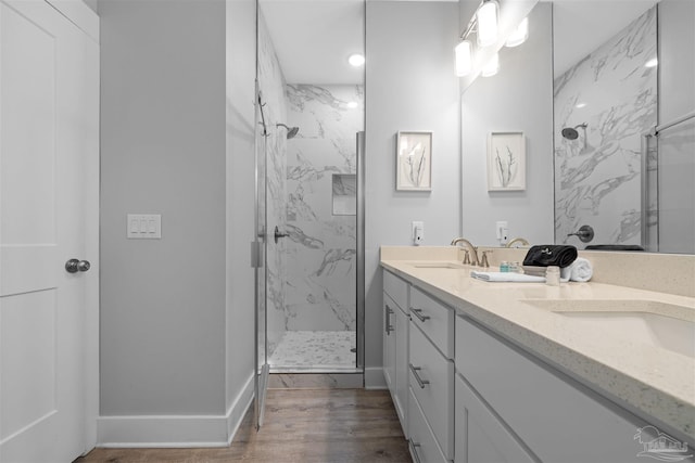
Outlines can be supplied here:
<path id="1" fill-rule="evenodd" d="M 458 77 L 465 77 L 473 70 L 473 42 L 469 38 L 471 34 L 477 35 L 476 44 L 478 48 L 490 47 L 497 42 L 498 10 L 497 0 L 482 0 L 476 9 L 473 17 L 470 18 L 468 26 L 460 35 L 460 41 L 454 48 Z"/>

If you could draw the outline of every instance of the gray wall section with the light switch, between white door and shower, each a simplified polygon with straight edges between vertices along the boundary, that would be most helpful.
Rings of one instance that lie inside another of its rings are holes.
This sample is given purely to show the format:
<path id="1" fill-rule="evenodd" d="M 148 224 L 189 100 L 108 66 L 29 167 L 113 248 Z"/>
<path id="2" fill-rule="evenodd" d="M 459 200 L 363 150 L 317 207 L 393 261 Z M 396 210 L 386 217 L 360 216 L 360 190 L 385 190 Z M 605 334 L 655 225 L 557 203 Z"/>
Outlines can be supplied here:
<path id="1" fill-rule="evenodd" d="M 225 3 L 101 16 L 101 414 L 225 410 Z M 162 240 L 126 240 L 126 214 Z"/>

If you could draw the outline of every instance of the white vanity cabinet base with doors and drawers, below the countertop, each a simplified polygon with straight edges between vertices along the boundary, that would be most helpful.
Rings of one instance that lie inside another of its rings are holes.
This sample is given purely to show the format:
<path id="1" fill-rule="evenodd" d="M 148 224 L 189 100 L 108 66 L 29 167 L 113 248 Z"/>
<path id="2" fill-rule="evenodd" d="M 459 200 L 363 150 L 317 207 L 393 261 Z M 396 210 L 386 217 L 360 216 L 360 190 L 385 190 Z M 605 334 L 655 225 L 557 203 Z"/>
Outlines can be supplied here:
<path id="1" fill-rule="evenodd" d="M 384 372 L 414 461 L 645 461 L 635 436 L 657 423 L 466 314 L 475 310 L 453 309 L 384 271 Z"/>

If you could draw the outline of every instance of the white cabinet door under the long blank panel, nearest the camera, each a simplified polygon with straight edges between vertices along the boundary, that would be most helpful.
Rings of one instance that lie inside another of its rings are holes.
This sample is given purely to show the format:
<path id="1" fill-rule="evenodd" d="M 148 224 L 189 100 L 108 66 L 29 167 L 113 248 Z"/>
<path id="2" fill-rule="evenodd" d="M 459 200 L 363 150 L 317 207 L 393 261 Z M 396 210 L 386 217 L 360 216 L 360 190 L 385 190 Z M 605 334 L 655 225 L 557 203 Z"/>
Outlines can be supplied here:
<path id="1" fill-rule="evenodd" d="M 455 463 L 535 461 L 458 375 L 455 401 Z"/>

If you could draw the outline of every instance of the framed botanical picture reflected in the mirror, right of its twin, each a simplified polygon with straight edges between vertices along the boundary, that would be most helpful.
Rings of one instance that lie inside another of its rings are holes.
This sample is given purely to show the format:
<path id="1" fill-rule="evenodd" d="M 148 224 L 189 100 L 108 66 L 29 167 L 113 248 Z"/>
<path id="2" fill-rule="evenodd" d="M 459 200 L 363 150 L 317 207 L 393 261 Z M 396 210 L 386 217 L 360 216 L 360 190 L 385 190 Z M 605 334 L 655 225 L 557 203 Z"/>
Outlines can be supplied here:
<path id="1" fill-rule="evenodd" d="M 488 191 L 526 190 L 526 137 L 523 132 L 488 136 Z"/>

